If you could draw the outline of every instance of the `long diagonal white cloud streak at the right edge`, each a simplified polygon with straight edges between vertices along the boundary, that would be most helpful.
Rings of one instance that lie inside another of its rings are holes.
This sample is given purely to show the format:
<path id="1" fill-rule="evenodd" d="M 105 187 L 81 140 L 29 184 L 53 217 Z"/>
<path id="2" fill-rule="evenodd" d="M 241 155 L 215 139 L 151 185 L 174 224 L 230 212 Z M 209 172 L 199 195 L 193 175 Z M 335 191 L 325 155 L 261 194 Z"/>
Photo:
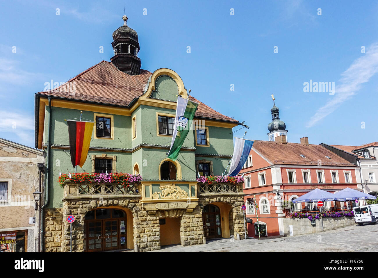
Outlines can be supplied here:
<path id="1" fill-rule="evenodd" d="M 366 48 L 366 54 L 356 59 L 350 67 L 341 74 L 341 84 L 335 88 L 335 95 L 328 103 L 319 108 L 310 118 L 306 127 L 314 126 L 322 118 L 335 111 L 342 103 L 350 99 L 361 89 L 361 84 L 369 82 L 378 72 L 378 43 Z"/>

